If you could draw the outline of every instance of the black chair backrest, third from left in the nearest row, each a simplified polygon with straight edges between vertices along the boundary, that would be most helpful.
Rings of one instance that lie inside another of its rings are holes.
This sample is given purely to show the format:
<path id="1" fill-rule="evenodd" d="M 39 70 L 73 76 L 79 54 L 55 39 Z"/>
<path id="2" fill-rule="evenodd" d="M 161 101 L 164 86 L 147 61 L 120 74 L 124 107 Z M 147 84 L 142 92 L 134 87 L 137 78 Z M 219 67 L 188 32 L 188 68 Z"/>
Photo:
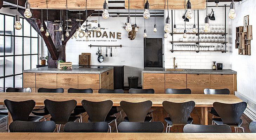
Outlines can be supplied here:
<path id="1" fill-rule="evenodd" d="M 126 133 L 162 133 L 164 124 L 161 121 L 153 122 L 121 122 L 118 125 L 119 132 Z"/>

